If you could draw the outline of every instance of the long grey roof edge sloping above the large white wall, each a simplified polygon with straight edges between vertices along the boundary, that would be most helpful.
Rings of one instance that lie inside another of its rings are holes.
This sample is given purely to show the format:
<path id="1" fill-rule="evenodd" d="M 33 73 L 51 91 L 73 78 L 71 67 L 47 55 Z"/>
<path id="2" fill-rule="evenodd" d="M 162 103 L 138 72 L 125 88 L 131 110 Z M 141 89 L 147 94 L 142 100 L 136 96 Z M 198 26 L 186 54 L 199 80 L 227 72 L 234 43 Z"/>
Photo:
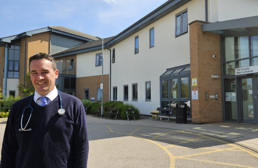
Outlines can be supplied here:
<path id="1" fill-rule="evenodd" d="M 129 26 L 127 29 L 123 30 L 121 33 L 116 35 L 113 39 L 106 42 L 106 46 L 113 46 L 116 42 L 119 43 L 120 41 L 126 39 L 130 35 L 133 35 L 137 31 L 145 28 L 146 26 L 149 26 L 151 23 L 159 20 L 160 18 L 166 16 L 170 12 L 173 12 L 178 7 L 181 7 L 182 5 L 186 4 L 187 2 L 190 2 L 191 0 L 169 0 L 156 8 L 154 11 L 150 12 L 143 18 L 141 18 L 139 21 L 136 21 L 134 24 Z M 117 42 L 118 41 L 118 42 Z M 112 45 L 113 44 L 113 45 Z"/>

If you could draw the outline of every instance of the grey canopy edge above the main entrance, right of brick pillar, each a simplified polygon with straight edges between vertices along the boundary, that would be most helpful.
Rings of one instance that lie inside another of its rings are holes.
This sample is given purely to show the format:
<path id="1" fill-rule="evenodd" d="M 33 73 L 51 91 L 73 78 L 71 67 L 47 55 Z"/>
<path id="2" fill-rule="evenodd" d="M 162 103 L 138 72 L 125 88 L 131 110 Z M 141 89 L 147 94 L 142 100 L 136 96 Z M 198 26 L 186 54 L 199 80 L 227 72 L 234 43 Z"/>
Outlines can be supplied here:
<path id="1" fill-rule="evenodd" d="M 228 30 L 237 28 L 257 27 L 258 16 L 244 17 L 228 21 L 208 23 L 201 26 L 202 31 Z"/>

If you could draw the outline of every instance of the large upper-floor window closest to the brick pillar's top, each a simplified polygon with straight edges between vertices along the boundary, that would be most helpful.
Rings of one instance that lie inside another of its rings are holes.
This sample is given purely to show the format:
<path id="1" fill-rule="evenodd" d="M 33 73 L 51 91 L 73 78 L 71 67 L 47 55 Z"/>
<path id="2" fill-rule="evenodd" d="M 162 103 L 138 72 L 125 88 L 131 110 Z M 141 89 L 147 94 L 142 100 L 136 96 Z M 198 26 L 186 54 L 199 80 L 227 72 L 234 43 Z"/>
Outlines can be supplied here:
<path id="1" fill-rule="evenodd" d="M 187 9 L 176 15 L 176 36 L 187 33 Z"/>

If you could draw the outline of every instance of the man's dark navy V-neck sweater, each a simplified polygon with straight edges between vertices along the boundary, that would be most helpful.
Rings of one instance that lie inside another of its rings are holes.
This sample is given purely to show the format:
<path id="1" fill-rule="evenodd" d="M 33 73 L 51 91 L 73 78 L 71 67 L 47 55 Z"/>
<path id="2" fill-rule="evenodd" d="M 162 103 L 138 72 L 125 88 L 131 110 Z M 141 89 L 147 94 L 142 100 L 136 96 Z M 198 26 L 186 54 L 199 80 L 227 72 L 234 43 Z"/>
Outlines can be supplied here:
<path id="1" fill-rule="evenodd" d="M 44 107 L 32 100 L 33 112 L 26 129 L 21 128 L 23 109 L 31 96 L 12 105 L 2 145 L 0 168 L 86 168 L 89 141 L 83 105 L 74 96 L 60 93 L 64 115 L 58 114 L 59 96 Z M 23 128 L 30 117 L 25 110 Z"/>

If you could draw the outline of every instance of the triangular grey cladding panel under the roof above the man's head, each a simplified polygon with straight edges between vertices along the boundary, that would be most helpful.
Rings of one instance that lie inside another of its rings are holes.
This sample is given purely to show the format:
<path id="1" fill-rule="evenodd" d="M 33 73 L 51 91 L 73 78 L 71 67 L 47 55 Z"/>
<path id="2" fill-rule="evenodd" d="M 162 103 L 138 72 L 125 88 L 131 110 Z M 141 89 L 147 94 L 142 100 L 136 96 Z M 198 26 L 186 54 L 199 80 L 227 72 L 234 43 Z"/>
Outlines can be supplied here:
<path id="1" fill-rule="evenodd" d="M 76 40 L 66 36 L 52 33 L 51 34 L 51 53 L 55 53 L 63 49 L 68 49 L 83 43 L 85 42 L 81 40 Z"/>

